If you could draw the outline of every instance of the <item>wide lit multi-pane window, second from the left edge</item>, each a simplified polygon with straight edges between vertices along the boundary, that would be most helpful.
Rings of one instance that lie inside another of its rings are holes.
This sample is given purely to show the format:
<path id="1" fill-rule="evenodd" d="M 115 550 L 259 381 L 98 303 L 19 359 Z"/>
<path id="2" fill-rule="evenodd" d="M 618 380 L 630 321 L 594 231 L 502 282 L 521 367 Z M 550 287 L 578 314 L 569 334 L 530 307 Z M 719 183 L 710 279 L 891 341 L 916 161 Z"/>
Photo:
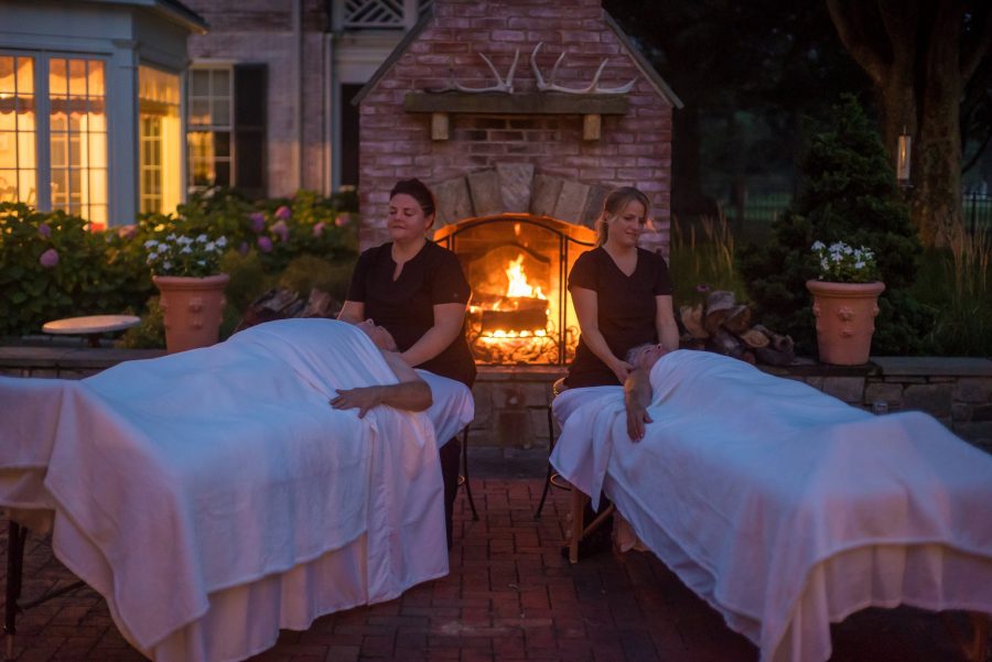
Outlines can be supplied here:
<path id="1" fill-rule="evenodd" d="M 107 115 L 104 63 L 48 61 L 52 208 L 107 225 Z"/>

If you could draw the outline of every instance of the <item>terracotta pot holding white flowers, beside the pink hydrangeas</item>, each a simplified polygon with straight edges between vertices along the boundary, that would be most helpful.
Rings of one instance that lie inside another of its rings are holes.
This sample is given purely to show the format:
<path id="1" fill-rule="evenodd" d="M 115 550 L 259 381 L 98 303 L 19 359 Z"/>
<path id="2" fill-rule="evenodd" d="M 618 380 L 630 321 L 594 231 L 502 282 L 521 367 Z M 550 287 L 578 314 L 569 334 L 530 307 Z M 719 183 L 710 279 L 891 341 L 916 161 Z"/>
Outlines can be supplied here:
<path id="1" fill-rule="evenodd" d="M 165 351 L 175 354 L 209 347 L 220 335 L 226 273 L 191 278 L 153 275 L 159 287 L 159 305 L 165 321 Z"/>

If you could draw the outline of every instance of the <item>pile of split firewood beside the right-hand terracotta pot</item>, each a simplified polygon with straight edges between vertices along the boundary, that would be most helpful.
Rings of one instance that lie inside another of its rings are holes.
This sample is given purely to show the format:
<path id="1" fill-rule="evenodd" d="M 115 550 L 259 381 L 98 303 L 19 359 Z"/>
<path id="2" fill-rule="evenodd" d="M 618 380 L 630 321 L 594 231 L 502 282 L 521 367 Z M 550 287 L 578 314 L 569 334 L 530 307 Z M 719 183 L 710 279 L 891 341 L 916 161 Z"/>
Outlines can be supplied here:
<path id="1" fill-rule="evenodd" d="M 752 310 L 734 301 L 733 292 L 715 290 L 705 304 L 681 306 L 683 349 L 705 349 L 747 361 L 787 366 L 796 358 L 792 338 L 761 324 L 752 325 Z"/>

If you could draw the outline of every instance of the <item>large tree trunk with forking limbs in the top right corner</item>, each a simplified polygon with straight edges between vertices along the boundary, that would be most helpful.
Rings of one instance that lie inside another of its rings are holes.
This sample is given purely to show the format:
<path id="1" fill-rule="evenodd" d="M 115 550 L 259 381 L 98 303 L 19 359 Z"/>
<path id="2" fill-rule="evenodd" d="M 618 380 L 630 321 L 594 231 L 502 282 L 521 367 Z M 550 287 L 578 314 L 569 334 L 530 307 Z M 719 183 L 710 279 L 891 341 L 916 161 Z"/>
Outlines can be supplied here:
<path id="1" fill-rule="evenodd" d="M 903 130 L 913 137 L 909 194 L 927 246 L 962 228 L 962 99 L 989 57 L 988 0 L 827 0 L 844 47 L 875 89 L 882 138 L 895 161 Z"/>

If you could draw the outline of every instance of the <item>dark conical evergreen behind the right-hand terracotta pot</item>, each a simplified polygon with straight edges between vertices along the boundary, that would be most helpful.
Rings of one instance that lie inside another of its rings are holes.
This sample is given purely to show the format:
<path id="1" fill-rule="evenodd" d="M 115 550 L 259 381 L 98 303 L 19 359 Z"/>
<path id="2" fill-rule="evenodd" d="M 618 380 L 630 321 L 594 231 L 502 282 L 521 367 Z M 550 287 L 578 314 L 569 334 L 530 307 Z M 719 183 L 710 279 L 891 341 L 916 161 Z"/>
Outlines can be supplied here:
<path id="1" fill-rule="evenodd" d="M 770 241 L 743 251 L 741 273 L 762 324 L 812 354 L 816 326 L 806 281 L 816 278 L 810 246 L 843 241 L 875 253 L 885 292 L 872 351 L 918 354 L 932 315 L 908 293 L 921 246 L 885 149 L 858 100 L 845 96 L 832 126 L 817 134 L 801 163 L 802 189 L 773 225 Z"/>

